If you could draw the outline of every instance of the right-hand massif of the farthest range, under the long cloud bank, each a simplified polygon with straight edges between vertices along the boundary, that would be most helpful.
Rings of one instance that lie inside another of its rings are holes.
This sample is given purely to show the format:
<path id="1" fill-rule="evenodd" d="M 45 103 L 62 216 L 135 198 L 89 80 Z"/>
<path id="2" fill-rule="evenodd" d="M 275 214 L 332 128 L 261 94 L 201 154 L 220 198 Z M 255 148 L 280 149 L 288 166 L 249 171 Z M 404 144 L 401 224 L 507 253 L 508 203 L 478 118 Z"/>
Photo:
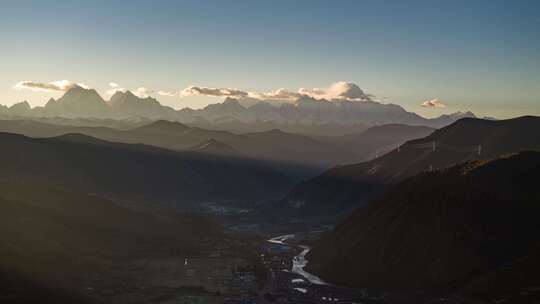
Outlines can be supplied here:
<path id="1" fill-rule="evenodd" d="M 243 106 L 241 100 L 227 98 L 223 103 L 208 105 L 197 111 L 185 110 L 183 114 L 188 119 L 187 122 L 193 122 L 192 117 L 198 116 L 217 124 L 235 121 L 243 123 L 271 121 L 285 125 L 313 126 L 410 124 L 441 127 L 463 117 L 475 117 L 470 112 L 457 112 L 435 119 L 426 119 L 407 112 L 395 104 L 382 104 L 375 101 L 318 100 L 306 96 L 300 97 L 294 103 L 272 105 L 259 101 L 250 106 Z"/>

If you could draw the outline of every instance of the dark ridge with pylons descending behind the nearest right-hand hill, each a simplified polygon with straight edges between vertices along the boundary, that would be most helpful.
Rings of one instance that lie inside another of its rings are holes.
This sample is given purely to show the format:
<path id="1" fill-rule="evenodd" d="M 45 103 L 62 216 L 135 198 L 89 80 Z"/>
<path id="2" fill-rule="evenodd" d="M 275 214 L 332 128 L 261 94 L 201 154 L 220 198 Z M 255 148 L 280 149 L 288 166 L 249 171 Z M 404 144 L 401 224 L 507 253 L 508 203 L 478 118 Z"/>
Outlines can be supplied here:
<path id="1" fill-rule="evenodd" d="M 464 118 L 374 160 L 336 167 L 301 182 L 282 203 L 303 216 L 344 213 L 419 172 L 539 148 L 540 117 Z"/>

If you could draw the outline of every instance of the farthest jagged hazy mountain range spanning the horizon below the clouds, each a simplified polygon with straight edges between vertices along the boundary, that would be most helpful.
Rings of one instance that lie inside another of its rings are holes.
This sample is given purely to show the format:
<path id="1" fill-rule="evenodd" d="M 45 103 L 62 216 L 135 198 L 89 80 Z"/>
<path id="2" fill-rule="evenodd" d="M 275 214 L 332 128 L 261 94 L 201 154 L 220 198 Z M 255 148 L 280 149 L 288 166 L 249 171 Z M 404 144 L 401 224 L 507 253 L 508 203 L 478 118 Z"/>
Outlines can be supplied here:
<path id="1" fill-rule="evenodd" d="M 463 117 L 474 117 L 470 112 L 457 112 L 427 119 L 407 112 L 395 104 L 376 101 L 325 100 L 300 96 L 295 101 L 275 104 L 265 100 L 227 98 L 222 103 L 211 104 L 199 110 L 175 110 L 161 105 L 152 97 L 141 98 L 130 91 L 116 92 L 105 101 L 95 90 L 74 86 L 58 100 L 50 99 L 45 106 L 31 108 L 28 102 L 11 107 L 0 107 L 0 115 L 16 117 L 64 117 L 64 118 L 115 118 L 142 117 L 165 119 L 193 124 L 216 124 L 222 128 L 230 125 L 265 123 L 285 126 L 305 133 L 327 134 L 321 126 L 374 126 L 381 124 L 410 124 L 441 127 Z M 294 127 L 297 126 L 297 127 Z M 306 126 L 313 126 L 307 128 Z M 232 130 L 230 129 L 230 130 Z M 344 130 L 343 128 L 338 128 Z M 243 129 L 245 132 L 247 129 Z M 253 130 L 249 128 L 249 130 Z M 264 129 L 261 131 L 266 131 Z"/>

